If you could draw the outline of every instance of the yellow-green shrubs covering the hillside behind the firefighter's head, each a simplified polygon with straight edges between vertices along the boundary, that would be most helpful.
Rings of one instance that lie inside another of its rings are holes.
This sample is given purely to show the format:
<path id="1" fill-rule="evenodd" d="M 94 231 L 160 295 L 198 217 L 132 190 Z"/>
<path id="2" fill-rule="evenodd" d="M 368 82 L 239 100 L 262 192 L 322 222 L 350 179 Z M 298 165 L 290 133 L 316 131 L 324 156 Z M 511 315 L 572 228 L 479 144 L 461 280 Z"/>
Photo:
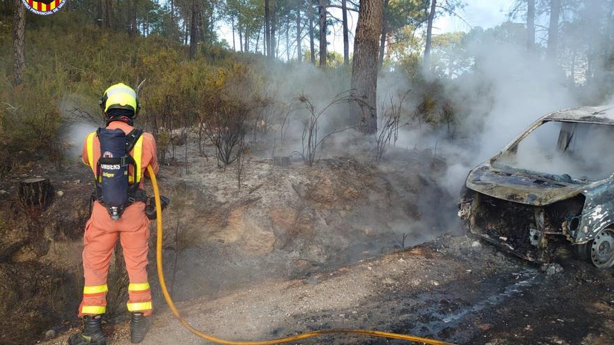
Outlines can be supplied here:
<path id="1" fill-rule="evenodd" d="M 155 135 L 163 133 L 166 137 L 158 137 L 160 144 L 170 148 L 185 139 L 197 118 L 208 114 L 204 97 L 227 90 L 216 84 L 216 78 L 243 68 L 241 77 L 264 84 L 257 76 L 255 56 L 200 45 L 197 59 L 188 61 L 186 47 L 172 39 L 100 29 L 74 13 L 49 17 L 53 17 L 52 25 L 26 31 L 27 66 L 24 84 L 17 87 L 10 84 L 10 23 L 0 24 L 0 174 L 43 158 L 61 167 L 68 146 L 66 121 L 100 121 L 102 114 L 96 105 L 114 83 L 136 88 L 143 82 L 137 125 L 145 125 Z M 75 119 L 67 104 L 84 116 Z M 181 128 L 179 135 L 177 128 Z M 80 140 L 75 142 L 80 144 Z M 160 151 L 162 155 L 166 152 Z"/>

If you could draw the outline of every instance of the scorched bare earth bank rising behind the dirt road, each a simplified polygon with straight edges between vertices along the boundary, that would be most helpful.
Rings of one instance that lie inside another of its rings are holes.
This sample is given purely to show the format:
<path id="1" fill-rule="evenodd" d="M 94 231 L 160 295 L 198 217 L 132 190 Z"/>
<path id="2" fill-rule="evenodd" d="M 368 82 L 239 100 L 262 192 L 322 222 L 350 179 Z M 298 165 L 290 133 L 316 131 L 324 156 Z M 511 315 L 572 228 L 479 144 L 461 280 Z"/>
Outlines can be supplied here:
<path id="1" fill-rule="evenodd" d="M 164 215 L 164 248 L 173 295 L 214 298 L 429 240 L 455 218 L 456 198 L 437 185 L 443 167 L 422 151 L 405 151 L 379 167 L 350 158 L 278 167 L 253 154 L 239 187 L 234 166 L 223 169 L 191 153 L 187 161 L 174 160 L 160 173 L 162 192 L 172 200 Z M 1 343 L 29 344 L 78 323 L 90 174 L 78 162 L 62 172 L 39 164 L 0 181 L 0 294 L 7 296 L 0 302 Z M 19 182 L 34 176 L 49 178 L 54 189 L 44 210 L 24 207 L 17 195 Z M 155 240 L 151 236 L 152 246 Z M 118 246 L 109 279 L 110 323 L 126 316 L 122 261 Z M 152 289 L 161 305 L 158 286 Z"/>

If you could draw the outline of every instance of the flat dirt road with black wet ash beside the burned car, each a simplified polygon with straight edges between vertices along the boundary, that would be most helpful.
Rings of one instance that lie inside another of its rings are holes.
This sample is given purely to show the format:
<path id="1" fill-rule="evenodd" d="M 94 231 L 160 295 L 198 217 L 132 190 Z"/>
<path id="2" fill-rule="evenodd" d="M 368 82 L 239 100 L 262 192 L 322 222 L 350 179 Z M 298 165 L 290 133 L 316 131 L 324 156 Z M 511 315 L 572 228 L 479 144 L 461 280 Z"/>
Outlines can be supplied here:
<path id="1" fill-rule="evenodd" d="M 559 262 L 564 271 L 546 275 L 465 236 L 444 237 L 350 268 L 179 307 L 195 327 L 232 339 L 375 328 L 455 344 L 614 344 L 613 271 L 564 255 Z M 205 344 L 165 306 L 158 306 L 153 325 L 143 344 Z M 126 324 L 107 331 L 112 344 L 129 344 Z M 44 344 L 63 344 L 67 335 Z M 336 336 L 303 344 L 389 343 Z"/>

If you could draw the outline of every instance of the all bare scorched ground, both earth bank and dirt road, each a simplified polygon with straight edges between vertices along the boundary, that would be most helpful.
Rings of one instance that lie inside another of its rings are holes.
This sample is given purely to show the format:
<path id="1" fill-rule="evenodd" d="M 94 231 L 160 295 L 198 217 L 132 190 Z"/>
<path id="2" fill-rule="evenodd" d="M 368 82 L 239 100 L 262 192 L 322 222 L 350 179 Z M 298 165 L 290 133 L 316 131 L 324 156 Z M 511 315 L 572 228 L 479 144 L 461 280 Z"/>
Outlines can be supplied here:
<path id="1" fill-rule="evenodd" d="M 407 151 L 379 166 L 330 158 L 313 167 L 276 167 L 250 155 L 239 188 L 237 171 L 218 167 L 210 151 L 188 151 L 160 174 L 172 199 L 164 216 L 167 283 L 197 328 L 236 339 L 359 327 L 457 344 L 611 344 L 614 271 L 562 251 L 564 271 L 546 277 L 466 238 L 454 222 L 456 196 L 439 187 L 445 162 L 433 153 Z M 15 197 L 18 181 L 36 175 L 63 192 L 43 213 L 22 209 Z M 42 342 L 45 334 L 52 339 L 42 344 L 62 344 L 79 325 L 89 171 L 34 164 L 5 176 L 0 190 L 0 344 Z M 172 318 L 153 265 L 150 273 L 157 310 L 144 344 L 204 344 Z M 115 260 L 105 319 L 113 344 L 128 344 L 126 285 Z M 331 343 L 388 342 L 303 342 Z"/>

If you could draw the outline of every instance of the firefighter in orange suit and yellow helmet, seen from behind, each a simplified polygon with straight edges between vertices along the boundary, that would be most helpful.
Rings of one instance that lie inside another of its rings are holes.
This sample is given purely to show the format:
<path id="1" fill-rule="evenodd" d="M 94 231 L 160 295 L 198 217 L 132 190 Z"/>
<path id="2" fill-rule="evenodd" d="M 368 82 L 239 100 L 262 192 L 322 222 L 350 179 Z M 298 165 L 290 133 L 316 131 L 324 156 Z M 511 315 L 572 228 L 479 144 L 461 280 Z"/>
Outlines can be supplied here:
<path id="1" fill-rule="evenodd" d="M 149 218 L 143 176 L 147 166 L 158 173 L 156 142 L 149 133 L 133 127 L 139 104 L 135 91 L 115 84 L 100 100 L 106 127 L 84 140 L 83 162 L 94 176 L 93 208 L 84 233 L 83 273 L 85 284 L 79 316 L 84 329 L 68 339 L 70 345 L 105 345 L 100 317 L 105 314 L 107 275 L 117 240 L 123 250 L 128 285 L 130 342 L 142 342 L 149 329 L 153 305 L 147 281 Z"/>

